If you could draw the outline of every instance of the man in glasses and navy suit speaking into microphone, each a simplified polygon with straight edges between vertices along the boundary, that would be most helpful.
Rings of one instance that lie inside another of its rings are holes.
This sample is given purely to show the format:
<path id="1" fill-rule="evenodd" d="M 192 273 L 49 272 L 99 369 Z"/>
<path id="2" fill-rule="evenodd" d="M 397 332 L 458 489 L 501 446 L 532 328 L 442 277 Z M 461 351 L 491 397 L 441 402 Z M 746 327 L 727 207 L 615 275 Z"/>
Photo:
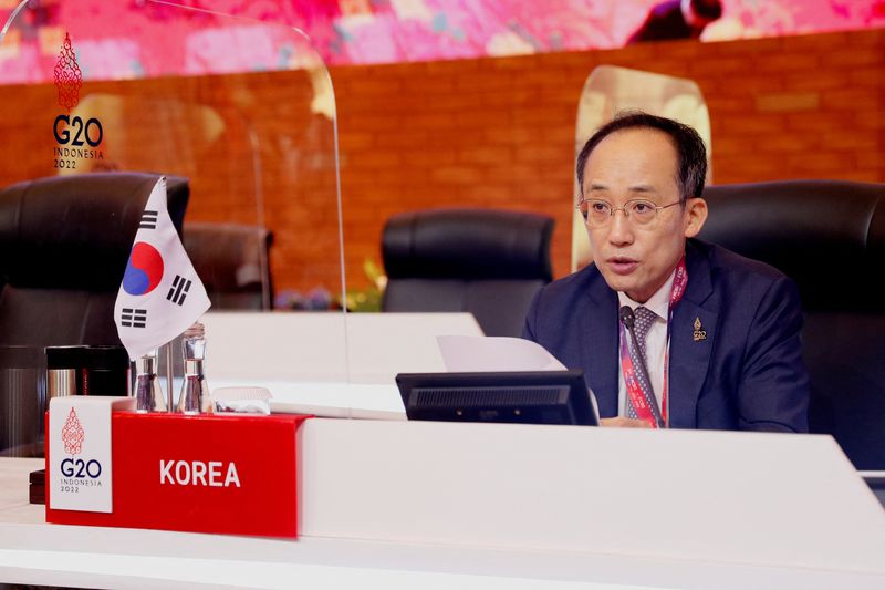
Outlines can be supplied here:
<path id="1" fill-rule="evenodd" d="M 584 370 L 603 425 L 806 432 L 796 287 L 694 238 L 706 168 L 675 121 L 597 131 L 577 158 L 594 262 L 538 293 L 523 337 Z"/>

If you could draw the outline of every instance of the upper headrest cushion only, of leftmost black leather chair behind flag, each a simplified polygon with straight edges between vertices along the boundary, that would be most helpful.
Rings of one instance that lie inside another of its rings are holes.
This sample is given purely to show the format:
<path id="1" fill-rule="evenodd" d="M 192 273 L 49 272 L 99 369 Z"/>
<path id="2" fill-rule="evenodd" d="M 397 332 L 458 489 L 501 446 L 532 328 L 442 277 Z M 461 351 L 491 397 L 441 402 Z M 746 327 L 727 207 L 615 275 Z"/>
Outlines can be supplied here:
<path id="1" fill-rule="evenodd" d="M 15 287 L 115 291 L 156 174 L 38 178 L 0 190 L 0 273 Z M 181 232 L 187 179 L 167 177 Z"/>

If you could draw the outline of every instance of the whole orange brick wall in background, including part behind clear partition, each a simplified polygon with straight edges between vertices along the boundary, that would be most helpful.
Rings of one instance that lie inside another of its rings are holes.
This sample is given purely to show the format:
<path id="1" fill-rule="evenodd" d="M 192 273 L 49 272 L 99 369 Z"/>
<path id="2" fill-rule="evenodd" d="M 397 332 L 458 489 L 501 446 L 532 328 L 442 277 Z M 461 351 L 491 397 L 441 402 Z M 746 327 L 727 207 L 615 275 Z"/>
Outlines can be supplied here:
<path id="1" fill-rule="evenodd" d="M 365 284 L 362 262 L 379 260 L 381 230 L 389 215 L 437 206 L 551 215 L 556 219 L 554 270 L 558 276 L 568 272 L 576 105 L 586 76 L 600 64 L 694 79 L 710 110 L 719 184 L 784 178 L 885 182 L 885 30 L 335 68 L 348 282 Z M 91 89 L 174 93 L 216 105 L 222 113 L 231 107 L 244 113 L 262 142 L 267 222 L 278 236 L 272 258 L 278 288 L 334 286 L 334 244 L 303 237 L 316 228 L 334 235 L 335 220 L 325 199 L 333 187 L 330 130 L 322 117 L 304 120 L 309 96 L 287 94 L 287 87 L 294 87 L 288 76 L 301 74 L 256 75 L 246 81 L 163 79 Z M 0 87 L 0 102 L 17 104 L 22 113 L 7 114 L 0 122 L 7 144 L 0 161 L 2 184 L 52 174 L 45 167 L 45 147 L 29 148 L 35 141 L 29 122 L 51 122 L 54 116 L 32 105 L 41 93 L 52 91 Z M 226 133 L 239 137 L 237 121 L 230 116 Z M 304 128 L 301 138 L 314 142 L 322 156 L 319 163 L 293 161 L 281 128 Z M 240 172 L 232 168 L 248 170 L 251 161 L 241 138 L 226 145 L 223 153 L 201 155 L 204 166 L 191 174 L 190 219 L 227 218 L 236 208 L 237 192 L 230 185 Z M 212 166 L 214 157 L 228 162 L 225 169 Z M 293 177 L 301 183 L 294 194 L 281 188 Z"/>

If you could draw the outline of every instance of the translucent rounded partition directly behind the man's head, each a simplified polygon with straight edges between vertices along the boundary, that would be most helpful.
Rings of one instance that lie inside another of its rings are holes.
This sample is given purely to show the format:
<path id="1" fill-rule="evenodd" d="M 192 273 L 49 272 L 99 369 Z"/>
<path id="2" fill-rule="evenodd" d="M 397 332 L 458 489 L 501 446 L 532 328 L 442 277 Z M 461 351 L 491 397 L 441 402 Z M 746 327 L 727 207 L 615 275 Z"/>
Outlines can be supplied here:
<path id="1" fill-rule="evenodd" d="M 577 104 L 575 156 L 594 131 L 628 110 L 675 118 L 695 127 L 707 144 L 707 183 L 712 180 L 710 115 L 700 89 L 691 80 L 639 70 L 600 65 L 591 72 Z M 574 209 L 581 195 L 577 179 L 573 183 L 571 268 L 575 271 L 592 260 L 593 252 L 584 219 Z"/>

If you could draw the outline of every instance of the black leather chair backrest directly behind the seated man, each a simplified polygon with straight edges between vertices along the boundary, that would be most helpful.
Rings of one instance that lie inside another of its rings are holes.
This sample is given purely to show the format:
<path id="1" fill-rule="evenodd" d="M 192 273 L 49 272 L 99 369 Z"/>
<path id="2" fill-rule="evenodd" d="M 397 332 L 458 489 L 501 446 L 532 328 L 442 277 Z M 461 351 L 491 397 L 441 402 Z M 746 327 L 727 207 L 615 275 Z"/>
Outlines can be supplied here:
<path id="1" fill-rule="evenodd" d="M 788 180 L 709 186 L 700 235 L 799 284 L 811 431 L 857 468 L 885 469 L 885 185 Z"/>

